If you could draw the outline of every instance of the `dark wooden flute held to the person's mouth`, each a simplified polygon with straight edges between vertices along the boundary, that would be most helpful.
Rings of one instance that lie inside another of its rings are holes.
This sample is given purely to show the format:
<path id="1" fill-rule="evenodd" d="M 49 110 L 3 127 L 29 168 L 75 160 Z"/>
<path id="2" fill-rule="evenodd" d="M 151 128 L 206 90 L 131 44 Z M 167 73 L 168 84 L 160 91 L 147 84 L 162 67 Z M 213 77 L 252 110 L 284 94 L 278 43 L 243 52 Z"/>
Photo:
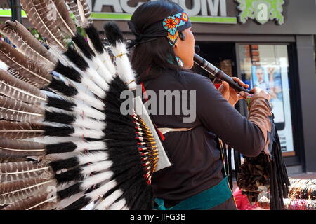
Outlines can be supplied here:
<path id="1" fill-rule="evenodd" d="M 199 65 L 202 69 L 209 72 L 212 76 L 215 76 L 217 79 L 221 81 L 227 82 L 230 85 L 230 87 L 235 89 L 237 92 L 244 91 L 248 92 L 249 94 L 253 94 L 249 90 L 246 90 L 244 87 L 239 85 L 239 83 L 235 82 L 235 80 L 230 78 L 230 76 L 228 76 L 225 72 L 221 71 L 216 66 L 213 66 L 213 64 L 206 61 L 206 59 L 204 59 L 203 57 L 195 54 L 194 62 L 195 64 Z"/>

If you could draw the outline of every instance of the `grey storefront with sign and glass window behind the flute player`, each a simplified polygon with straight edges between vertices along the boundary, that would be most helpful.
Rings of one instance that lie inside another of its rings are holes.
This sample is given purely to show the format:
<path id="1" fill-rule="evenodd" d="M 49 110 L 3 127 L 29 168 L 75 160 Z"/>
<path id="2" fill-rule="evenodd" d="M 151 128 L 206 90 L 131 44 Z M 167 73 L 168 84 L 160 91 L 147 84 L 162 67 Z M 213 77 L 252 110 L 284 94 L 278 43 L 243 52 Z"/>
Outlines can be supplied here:
<path id="1" fill-rule="evenodd" d="M 270 92 L 289 173 L 316 172 L 315 0 L 174 1 L 189 13 L 202 57 Z M 117 20 L 133 38 L 126 20 L 143 2 L 90 1 L 100 34 Z M 237 109 L 246 115 L 244 102 Z"/>

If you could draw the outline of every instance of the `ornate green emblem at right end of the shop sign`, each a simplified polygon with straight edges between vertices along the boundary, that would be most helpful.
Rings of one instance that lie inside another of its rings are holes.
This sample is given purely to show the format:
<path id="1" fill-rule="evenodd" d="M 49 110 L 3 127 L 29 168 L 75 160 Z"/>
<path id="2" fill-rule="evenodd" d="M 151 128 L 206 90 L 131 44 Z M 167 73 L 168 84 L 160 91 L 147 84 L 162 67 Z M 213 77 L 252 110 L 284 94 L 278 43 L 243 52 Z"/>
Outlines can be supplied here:
<path id="1" fill-rule="evenodd" d="M 284 23 L 282 15 L 284 0 L 236 0 L 239 3 L 239 22 L 253 19 L 260 24 L 275 20 L 277 25 Z"/>

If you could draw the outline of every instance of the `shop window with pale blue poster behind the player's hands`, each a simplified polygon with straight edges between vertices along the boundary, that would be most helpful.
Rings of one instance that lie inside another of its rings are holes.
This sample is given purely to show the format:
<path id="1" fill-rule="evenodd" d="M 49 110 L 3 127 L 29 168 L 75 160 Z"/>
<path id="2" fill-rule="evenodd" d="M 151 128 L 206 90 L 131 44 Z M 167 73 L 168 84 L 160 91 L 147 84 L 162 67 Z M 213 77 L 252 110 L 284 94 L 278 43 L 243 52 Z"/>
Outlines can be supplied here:
<path id="1" fill-rule="evenodd" d="M 271 95 L 270 103 L 284 155 L 293 155 L 287 45 L 239 45 L 242 80 Z"/>

